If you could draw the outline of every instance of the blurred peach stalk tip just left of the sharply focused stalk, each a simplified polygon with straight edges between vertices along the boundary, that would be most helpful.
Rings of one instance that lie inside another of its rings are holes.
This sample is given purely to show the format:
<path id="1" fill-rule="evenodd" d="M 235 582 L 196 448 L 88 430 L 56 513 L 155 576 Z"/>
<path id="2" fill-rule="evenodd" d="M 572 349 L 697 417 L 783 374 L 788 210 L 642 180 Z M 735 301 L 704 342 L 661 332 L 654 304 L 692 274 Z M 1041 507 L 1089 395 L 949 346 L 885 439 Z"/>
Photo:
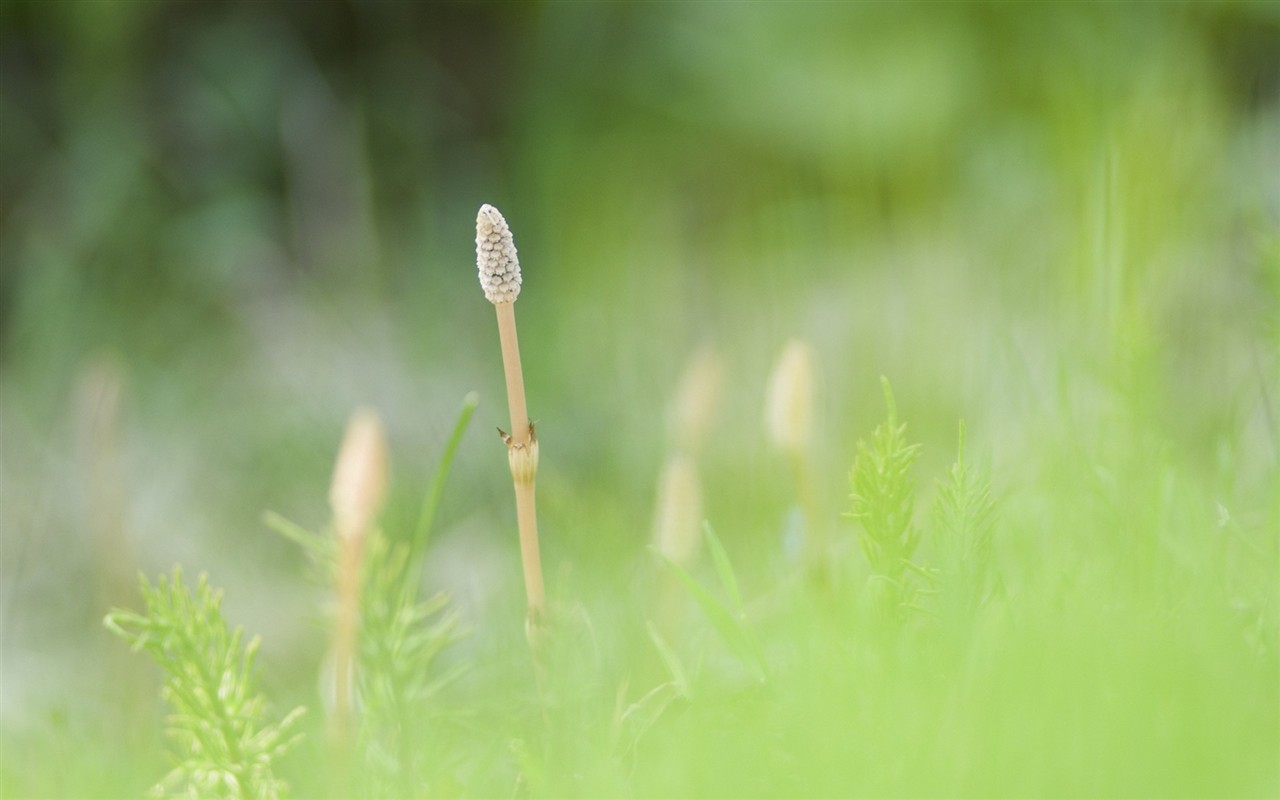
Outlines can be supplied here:
<path id="1" fill-rule="evenodd" d="M 347 422 L 347 434 L 329 485 L 333 522 L 343 539 L 369 532 L 387 497 L 387 436 L 378 415 L 360 408 Z"/>

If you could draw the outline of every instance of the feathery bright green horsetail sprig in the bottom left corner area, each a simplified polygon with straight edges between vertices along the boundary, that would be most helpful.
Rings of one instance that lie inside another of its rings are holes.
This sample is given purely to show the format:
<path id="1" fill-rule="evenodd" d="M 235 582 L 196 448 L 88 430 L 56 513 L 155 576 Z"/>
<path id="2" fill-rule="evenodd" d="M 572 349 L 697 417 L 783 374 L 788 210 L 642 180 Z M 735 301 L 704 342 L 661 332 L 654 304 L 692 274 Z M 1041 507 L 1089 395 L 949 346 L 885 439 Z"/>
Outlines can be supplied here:
<path id="1" fill-rule="evenodd" d="M 259 639 L 242 646 L 243 630 L 228 630 L 221 591 L 210 589 L 204 575 L 193 594 L 180 568 L 154 586 L 142 576 L 141 589 L 146 613 L 113 611 L 104 623 L 165 673 L 177 767 L 155 794 L 225 800 L 282 796 L 285 785 L 275 777 L 274 764 L 297 742 L 293 727 L 303 709 L 266 721 L 253 663 Z"/>

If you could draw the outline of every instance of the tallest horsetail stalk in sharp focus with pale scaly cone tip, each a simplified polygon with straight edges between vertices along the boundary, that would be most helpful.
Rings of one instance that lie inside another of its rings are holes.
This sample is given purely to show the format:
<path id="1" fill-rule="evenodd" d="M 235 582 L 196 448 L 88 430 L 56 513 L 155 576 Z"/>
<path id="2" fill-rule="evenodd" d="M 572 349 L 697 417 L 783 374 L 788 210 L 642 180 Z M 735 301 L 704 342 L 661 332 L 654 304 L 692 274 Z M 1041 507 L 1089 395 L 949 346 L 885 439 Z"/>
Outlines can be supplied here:
<path id="1" fill-rule="evenodd" d="M 543 566 L 538 552 L 538 513 L 534 481 L 538 476 L 538 438 L 525 406 L 525 378 L 520 369 L 520 343 L 516 338 L 516 298 L 520 296 L 520 260 L 511 228 L 498 209 L 485 204 L 476 215 L 476 268 L 485 298 L 498 311 L 498 337 L 502 366 L 507 376 L 507 408 L 511 433 L 498 429 L 507 444 L 507 463 L 516 486 L 516 522 L 520 527 L 520 558 L 525 570 L 529 612 L 525 635 L 535 655 L 548 625 Z"/>

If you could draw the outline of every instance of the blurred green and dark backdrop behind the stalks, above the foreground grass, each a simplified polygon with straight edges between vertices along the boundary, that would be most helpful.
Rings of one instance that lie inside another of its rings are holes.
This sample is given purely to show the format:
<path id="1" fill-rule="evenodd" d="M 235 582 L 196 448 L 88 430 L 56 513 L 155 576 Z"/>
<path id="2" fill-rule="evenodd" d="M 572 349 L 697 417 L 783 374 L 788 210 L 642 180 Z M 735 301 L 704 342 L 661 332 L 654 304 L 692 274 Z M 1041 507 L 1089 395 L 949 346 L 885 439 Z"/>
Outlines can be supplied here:
<path id="1" fill-rule="evenodd" d="M 1256 554 L 1213 596 L 1275 663 L 1277 4 L 6 0 L 0 69 L 14 796 L 88 791 L 114 758 L 86 744 L 114 724 L 93 664 L 124 649 L 100 620 L 137 570 L 207 571 L 306 698 L 325 595 L 260 517 L 325 527 L 358 404 L 389 429 L 394 527 L 479 392 L 429 571 L 518 637 L 483 202 L 520 248 L 563 600 L 646 558 L 704 344 L 726 375 L 707 516 L 767 589 L 791 499 L 764 390 L 801 337 L 841 535 L 886 375 L 925 495 L 968 422 L 1010 553 L 1089 563 L 1124 531 L 1098 521 L 1146 503 L 1240 531 Z M 1275 684 L 1248 685 L 1260 713 Z"/>

